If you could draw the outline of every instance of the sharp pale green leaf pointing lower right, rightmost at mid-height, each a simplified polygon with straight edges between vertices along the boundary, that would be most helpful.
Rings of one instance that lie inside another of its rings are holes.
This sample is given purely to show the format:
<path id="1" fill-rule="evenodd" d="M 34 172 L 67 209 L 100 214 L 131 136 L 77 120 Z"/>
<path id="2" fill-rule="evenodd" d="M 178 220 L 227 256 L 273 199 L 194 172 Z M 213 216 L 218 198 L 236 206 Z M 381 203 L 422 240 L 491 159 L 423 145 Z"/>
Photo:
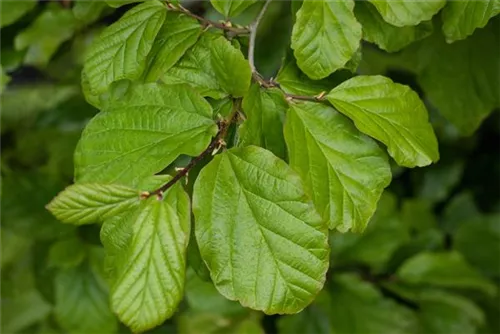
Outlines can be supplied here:
<path id="1" fill-rule="evenodd" d="M 328 100 L 367 135 L 387 145 L 401 166 L 439 159 L 436 135 L 417 93 L 382 76 L 358 76 L 334 88 Z"/>

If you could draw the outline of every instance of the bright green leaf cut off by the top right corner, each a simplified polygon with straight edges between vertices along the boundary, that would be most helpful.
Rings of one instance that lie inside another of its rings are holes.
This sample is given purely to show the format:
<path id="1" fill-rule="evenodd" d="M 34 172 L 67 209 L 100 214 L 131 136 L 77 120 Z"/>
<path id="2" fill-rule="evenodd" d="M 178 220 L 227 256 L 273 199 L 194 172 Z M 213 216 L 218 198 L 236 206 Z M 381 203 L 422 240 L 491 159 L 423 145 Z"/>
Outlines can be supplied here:
<path id="1" fill-rule="evenodd" d="M 443 9 L 443 32 L 448 43 L 465 39 L 500 13 L 498 0 L 448 0 Z"/>

